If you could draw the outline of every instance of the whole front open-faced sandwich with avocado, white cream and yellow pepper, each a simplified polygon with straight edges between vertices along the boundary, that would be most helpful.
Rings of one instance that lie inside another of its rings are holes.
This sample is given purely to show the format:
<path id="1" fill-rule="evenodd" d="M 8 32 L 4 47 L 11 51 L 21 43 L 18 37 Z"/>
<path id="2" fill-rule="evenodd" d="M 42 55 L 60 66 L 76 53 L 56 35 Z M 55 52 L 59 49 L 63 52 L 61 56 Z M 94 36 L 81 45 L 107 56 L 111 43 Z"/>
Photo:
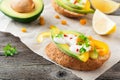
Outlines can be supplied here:
<path id="1" fill-rule="evenodd" d="M 56 63 L 75 70 L 90 71 L 102 66 L 110 57 L 106 43 L 76 31 L 51 27 L 52 42 L 46 46 L 47 56 Z"/>

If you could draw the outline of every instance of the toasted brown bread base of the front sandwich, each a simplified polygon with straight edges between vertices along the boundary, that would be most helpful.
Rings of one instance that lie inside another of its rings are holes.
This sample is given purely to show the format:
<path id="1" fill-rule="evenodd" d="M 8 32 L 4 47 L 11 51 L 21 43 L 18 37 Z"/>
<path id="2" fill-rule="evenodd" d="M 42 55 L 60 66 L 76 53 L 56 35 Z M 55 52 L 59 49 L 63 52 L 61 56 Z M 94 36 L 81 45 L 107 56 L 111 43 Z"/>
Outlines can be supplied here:
<path id="1" fill-rule="evenodd" d="M 110 53 L 98 59 L 82 62 L 61 52 L 54 43 L 49 43 L 45 49 L 47 56 L 56 63 L 74 70 L 91 71 L 102 66 L 110 57 Z"/>

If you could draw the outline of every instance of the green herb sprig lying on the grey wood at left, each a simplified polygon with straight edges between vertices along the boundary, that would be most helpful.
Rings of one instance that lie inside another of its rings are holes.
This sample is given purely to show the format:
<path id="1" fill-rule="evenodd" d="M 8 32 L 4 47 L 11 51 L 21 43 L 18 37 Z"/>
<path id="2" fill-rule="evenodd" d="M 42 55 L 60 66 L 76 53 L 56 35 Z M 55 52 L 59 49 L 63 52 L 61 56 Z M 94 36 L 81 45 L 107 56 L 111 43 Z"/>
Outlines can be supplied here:
<path id="1" fill-rule="evenodd" d="M 11 44 L 7 44 L 4 48 L 4 55 L 5 56 L 13 56 L 15 54 L 18 53 L 17 49 L 13 46 L 11 46 Z"/>

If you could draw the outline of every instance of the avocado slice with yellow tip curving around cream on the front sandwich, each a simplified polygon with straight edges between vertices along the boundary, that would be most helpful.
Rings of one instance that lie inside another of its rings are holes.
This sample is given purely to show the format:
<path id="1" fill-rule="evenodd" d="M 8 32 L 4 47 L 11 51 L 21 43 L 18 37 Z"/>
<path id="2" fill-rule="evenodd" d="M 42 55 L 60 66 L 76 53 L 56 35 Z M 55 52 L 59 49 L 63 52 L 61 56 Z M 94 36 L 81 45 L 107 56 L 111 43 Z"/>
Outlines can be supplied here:
<path id="1" fill-rule="evenodd" d="M 57 27 L 52 26 L 51 27 L 51 38 L 52 40 L 54 39 L 54 37 L 56 36 L 56 34 L 59 34 L 60 32 L 64 33 L 64 34 L 74 34 L 76 36 L 81 35 L 82 33 L 79 32 L 75 32 L 75 31 L 64 31 L 64 30 L 59 30 Z M 66 55 L 74 57 L 82 62 L 86 62 L 89 59 L 89 53 L 83 53 L 83 54 L 75 54 L 72 51 L 69 50 L 69 45 L 67 44 L 60 44 L 60 43 L 56 43 L 54 40 L 53 42 L 56 44 L 56 46 L 62 51 L 64 52 Z"/>

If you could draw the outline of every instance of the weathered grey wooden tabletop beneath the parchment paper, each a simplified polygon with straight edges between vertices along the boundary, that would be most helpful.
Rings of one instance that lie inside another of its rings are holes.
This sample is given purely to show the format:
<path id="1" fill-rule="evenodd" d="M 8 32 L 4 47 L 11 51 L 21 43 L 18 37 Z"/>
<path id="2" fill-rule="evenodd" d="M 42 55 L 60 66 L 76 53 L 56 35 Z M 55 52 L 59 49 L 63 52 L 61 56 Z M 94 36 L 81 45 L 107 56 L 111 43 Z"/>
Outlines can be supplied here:
<path id="1" fill-rule="evenodd" d="M 120 15 L 120 9 L 113 15 Z M 33 53 L 13 35 L 0 32 L 0 51 L 7 43 L 16 46 L 19 54 L 14 57 L 0 56 L 0 80 L 81 80 Z M 120 80 L 120 62 L 96 80 Z"/>

